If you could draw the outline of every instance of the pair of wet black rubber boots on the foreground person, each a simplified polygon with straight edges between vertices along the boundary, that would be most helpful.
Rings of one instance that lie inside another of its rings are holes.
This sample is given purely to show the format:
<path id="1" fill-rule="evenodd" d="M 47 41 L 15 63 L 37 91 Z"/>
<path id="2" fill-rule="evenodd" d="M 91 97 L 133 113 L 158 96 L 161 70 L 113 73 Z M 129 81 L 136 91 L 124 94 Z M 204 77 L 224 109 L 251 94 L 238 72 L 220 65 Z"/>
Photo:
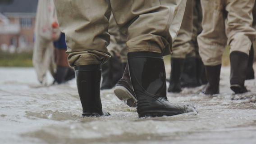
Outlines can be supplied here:
<path id="1" fill-rule="evenodd" d="M 173 116 L 194 112 L 186 104 L 169 103 L 166 97 L 165 65 L 161 54 L 133 52 L 128 54 L 128 71 L 137 99 L 139 117 Z M 83 116 L 108 116 L 102 110 L 100 97 L 101 65 L 75 67 Z"/>

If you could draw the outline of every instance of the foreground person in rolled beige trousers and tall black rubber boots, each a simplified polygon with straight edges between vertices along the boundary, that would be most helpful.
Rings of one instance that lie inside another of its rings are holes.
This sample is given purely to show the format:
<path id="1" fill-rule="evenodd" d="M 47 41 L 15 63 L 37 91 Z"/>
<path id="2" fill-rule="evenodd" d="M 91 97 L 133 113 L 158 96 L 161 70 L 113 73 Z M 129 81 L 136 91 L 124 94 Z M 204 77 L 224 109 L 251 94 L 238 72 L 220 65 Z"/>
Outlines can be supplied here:
<path id="1" fill-rule="evenodd" d="M 128 34 L 128 68 L 137 96 L 139 117 L 189 112 L 185 104 L 169 103 L 165 65 L 184 13 L 186 0 L 55 0 L 65 33 L 69 64 L 75 67 L 83 116 L 108 116 L 100 98 L 101 64 L 110 58 L 106 46 L 111 10 Z M 183 10 L 178 12 L 178 7 Z M 182 12 L 183 11 L 183 12 Z"/>

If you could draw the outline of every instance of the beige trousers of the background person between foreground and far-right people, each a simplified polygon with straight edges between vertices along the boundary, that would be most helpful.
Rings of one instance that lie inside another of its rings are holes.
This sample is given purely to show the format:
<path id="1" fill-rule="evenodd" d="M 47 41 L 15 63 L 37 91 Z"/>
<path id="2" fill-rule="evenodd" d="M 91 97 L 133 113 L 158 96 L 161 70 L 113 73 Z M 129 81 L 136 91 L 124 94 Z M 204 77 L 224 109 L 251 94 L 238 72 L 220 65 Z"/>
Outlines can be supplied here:
<path id="1" fill-rule="evenodd" d="M 198 56 L 198 31 L 201 31 L 200 0 L 188 0 L 178 36 L 173 44 L 172 58 Z"/>

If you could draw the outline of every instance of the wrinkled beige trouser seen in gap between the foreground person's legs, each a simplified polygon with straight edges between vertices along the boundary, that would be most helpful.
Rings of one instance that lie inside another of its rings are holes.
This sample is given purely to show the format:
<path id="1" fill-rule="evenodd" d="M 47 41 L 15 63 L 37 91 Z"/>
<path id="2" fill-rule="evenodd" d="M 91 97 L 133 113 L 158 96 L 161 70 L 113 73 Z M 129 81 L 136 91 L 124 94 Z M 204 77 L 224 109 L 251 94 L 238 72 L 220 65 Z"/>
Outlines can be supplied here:
<path id="1" fill-rule="evenodd" d="M 124 35 L 114 20 L 113 14 L 110 15 L 110 25 L 109 25 L 109 34 L 110 34 L 110 45 L 107 49 L 111 55 L 116 55 L 120 58 L 121 63 L 127 62 L 127 48 L 126 40 L 127 36 Z"/>

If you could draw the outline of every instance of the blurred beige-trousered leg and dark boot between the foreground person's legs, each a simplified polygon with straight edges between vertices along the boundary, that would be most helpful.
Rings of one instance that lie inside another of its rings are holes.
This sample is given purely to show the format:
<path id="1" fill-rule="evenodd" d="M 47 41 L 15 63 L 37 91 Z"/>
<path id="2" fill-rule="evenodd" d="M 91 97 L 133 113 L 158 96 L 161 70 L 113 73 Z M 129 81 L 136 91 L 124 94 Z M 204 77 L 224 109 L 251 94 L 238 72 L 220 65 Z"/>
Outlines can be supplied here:
<path id="1" fill-rule="evenodd" d="M 113 88 L 123 75 L 123 67 L 127 63 L 126 36 L 122 34 L 114 20 L 110 16 L 110 45 L 107 47 L 111 54 L 110 59 L 102 64 L 101 90 Z"/>

